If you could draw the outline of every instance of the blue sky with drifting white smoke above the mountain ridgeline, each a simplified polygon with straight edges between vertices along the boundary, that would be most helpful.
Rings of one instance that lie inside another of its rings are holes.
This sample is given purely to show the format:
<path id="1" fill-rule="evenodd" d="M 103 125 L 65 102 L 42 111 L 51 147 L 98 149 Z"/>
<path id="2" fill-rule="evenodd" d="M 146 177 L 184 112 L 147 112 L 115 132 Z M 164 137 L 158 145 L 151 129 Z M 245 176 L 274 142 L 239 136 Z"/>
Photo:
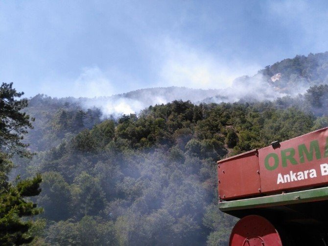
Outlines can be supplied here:
<path id="1" fill-rule="evenodd" d="M 0 1 L 0 82 L 32 97 L 224 88 L 328 50 L 327 1 Z"/>

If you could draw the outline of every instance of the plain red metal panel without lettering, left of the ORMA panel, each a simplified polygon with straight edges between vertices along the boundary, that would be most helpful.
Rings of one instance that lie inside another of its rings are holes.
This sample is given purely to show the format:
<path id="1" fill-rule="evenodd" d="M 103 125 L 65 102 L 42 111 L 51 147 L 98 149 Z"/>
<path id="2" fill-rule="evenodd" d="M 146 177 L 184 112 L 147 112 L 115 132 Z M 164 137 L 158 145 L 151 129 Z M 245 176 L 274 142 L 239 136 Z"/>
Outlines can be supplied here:
<path id="1" fill-rule="evenodd" d="M 218 161 L 218 191 L 221 199 L 229 200 L 259 194 L 258 151 L 252 150 Z"/>

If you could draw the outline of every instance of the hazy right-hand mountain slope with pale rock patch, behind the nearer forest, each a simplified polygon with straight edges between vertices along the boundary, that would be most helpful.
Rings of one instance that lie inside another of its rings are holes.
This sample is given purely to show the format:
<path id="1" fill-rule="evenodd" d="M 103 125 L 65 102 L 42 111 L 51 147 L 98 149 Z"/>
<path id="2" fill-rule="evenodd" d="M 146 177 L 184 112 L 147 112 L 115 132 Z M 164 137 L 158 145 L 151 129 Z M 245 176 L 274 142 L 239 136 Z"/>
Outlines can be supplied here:
<path id="1" fill-rule="evenodd" d="M 254 76 L 242 76 L 231 87 L 202 102 L 256 101 L 304 94 L 314 85 L 328 84 L 328 52 L 297 55 L 266 66 Z M 222 97 L 224 95 L 225 97 Z"/>

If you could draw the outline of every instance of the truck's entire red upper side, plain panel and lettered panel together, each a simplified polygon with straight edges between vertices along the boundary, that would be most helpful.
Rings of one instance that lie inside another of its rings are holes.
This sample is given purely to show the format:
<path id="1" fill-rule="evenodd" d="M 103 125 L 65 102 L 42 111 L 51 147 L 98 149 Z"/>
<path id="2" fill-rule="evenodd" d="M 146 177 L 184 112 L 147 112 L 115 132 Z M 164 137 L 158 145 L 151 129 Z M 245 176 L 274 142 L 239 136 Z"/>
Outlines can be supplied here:
<path id="1" fill-rule="evenodd" d="M 223 200 L 328 184 L 328 127 L 217 162 Z"/>

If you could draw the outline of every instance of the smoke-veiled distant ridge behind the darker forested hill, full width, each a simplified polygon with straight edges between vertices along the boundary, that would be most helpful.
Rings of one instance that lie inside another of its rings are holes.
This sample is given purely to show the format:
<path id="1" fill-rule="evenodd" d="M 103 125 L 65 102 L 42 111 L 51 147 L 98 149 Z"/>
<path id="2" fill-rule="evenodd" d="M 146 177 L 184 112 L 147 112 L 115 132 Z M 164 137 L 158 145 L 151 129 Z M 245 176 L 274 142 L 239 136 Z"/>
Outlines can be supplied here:
<path id="1" fill-rule="evenodd" d="M 161 87 L 100 98 L 37 95 L 29 99 L 26 109 L 37 119 L 26 142 L 31 144 L 32 150 L 46 150 L 57 146 L 63 139 L 70 139 L 72 134 L 84 128 L 91 129 L 104 119 L 117 121 L 123 114 L 140 114 L 150 105 L 173 100 L 190 100 L 195 104 L 277 100 L 280 108 L 294 106 L 320 116 L 328 113 L 327 88 L 313 85 L 327 82 L 328 52 L 325 52 L 282 60 L 252 77 L 236 78 L 232 87 L 220 90 Z M 312 88 L 308 90 L 310 86 Z"/>

